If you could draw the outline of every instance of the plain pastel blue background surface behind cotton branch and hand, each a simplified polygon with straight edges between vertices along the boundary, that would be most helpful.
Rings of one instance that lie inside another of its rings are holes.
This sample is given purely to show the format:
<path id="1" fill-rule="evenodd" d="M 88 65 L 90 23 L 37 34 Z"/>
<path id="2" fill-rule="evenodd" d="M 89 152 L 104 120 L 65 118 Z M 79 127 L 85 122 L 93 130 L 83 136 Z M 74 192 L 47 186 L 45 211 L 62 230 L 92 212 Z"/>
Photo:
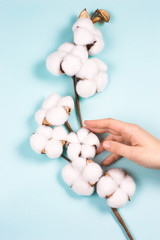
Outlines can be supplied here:
<path id="1" fill-rule="evenodd" d="M 97 26 L 106 46 L 110 83 L 81 100 L 83 119 L 112 117 L 141 125 L 160 138 L 160 3 L 158 0 L 0 1 L 0 239 L 123 240 L 105 200 L 78 197 L 63 183 L 63 159 L 36 155 L 29 136 L 34 112 L 51 92 L 72 95 L 68 77 L 46 71 L 46 56 L 72 40 L 72 24 L 83 8 L 104 8 L 111 21 Z M 78 129 L 75 113 L 70 123 Z M 102 161 L 105 155 L 99 157 Z M 160 171 L 127 159 L 136 194 L 120 213 L 135 239 L 160 239 Z"/>

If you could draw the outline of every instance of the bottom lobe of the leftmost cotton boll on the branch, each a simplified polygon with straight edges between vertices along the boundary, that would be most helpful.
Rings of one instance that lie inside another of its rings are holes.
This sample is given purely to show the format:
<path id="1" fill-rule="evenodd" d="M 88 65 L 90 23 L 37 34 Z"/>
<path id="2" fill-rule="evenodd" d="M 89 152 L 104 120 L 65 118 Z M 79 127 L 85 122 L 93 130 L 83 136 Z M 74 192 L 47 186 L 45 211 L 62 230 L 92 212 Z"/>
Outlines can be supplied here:
<path id="1" fill-rule="evenodd" d="M 63 146 L 60 141 L 51 139 L 45 146 L 45 153 L 49 158 L 59 158 L 63 152 Z"/>

